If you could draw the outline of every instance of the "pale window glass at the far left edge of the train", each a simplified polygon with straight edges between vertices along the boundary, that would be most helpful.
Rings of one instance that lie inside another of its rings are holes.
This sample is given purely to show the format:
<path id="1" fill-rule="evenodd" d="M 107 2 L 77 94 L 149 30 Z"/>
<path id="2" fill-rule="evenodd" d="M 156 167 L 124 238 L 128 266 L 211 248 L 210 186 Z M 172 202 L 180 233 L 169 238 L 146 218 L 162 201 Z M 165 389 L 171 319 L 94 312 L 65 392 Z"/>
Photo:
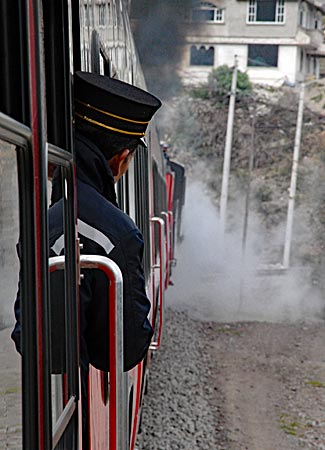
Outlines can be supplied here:
<path id="1" fill-rule="evenodd" d="M 10 334 L 18 286 L 18 181 L 15 146 L 0 140 L 0 414 L 1 442 L 21 448 L 21 360 Z M 2 409 L 1 407 L 1 409 Z"/>

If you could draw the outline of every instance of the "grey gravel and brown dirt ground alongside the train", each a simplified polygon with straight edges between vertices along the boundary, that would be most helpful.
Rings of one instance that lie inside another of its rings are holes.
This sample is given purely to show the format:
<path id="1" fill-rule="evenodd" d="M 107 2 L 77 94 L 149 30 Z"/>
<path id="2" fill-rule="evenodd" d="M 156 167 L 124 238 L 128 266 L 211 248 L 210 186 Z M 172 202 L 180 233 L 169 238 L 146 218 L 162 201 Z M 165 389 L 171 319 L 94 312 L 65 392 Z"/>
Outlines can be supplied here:
<path id="1" fill-rule="evenodd" d="M 325 327 L 168 309 L 140 450 L 325 449 Z"/>

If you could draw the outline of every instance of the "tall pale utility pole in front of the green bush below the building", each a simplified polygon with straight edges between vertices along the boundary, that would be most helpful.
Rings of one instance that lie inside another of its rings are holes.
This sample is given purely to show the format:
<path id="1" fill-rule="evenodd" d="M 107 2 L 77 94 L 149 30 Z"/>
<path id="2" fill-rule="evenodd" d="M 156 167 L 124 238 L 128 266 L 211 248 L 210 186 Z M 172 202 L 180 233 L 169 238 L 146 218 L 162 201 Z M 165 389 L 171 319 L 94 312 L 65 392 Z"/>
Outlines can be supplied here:
<path id="1" fill-rule="evenodd" d="M 229 99 L 227 133 L 226 133 L 224 160 L 223 160 L 222 186 L 221 186 L 221 198 L 220 198 L 220 232 L 221 232 L 222 239 L 223 239 L 223 236 L 225 234 L 225 229 L 226 229 L 228 183 L 229 183 L 232 134 L 233 134 L 235 102 L 236 102 L 237 72 L 238 72 L 238 60 L 237 60 L 237 55 L 235 55 L 235 65 L 234 65 L 234 70 L 232 73 L 231 91 L 230 91 L 230 99 Z"/>

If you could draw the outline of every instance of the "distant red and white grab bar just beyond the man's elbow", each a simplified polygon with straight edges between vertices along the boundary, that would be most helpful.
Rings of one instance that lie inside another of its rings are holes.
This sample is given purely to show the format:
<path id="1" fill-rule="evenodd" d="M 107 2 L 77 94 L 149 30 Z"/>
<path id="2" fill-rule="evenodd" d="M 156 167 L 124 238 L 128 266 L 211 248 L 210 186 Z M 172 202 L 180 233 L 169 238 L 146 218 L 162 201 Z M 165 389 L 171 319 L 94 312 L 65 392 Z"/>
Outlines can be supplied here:
<path id="1" fill-rule="evenodd" d="M 157 340 L 151 342 L 150 350 L 158 350 L 160 347 L 163 323 L 164 323 L 164 308 L 165 308 L 165 267 L 166 267 L 166 256 L 165 256 L 165 240 L 164 240 L 164 228 L 165 222 L 160 217 L 153 217 L 151 222 L 158 225 L 159 230 L 159 264 L 153 265 L 153 269 L 159 269 L 159 328 Z"/>

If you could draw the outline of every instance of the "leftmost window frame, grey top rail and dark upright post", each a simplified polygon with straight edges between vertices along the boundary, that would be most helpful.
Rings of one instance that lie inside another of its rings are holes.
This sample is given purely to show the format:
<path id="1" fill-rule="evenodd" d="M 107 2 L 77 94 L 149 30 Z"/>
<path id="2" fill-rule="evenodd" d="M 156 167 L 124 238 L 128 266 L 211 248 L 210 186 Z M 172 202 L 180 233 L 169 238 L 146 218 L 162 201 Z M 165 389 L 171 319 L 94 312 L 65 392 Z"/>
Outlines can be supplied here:
<path id="1" fill-rule="evenodd" d="M 36 267 L 34 244 L 28 238 L 34 234 L 33 192 L 33 147 L 32 131 L 29 127 L 0 113 L 0 139 L 15 146 L 17 157 L 19 192 L 19 235 L 21 240 L 21 298 L 22 298 L 22 415 L 23 426 L 31 430 L 38 429 L 38 414 L 35 398 L 38 398 L 37 342 L 33 331 L 36 329 L 37 305 L 29 301 L 36 298 Z M 32 446 L 37 445 L 37 433 L 28 436 Z"/>

